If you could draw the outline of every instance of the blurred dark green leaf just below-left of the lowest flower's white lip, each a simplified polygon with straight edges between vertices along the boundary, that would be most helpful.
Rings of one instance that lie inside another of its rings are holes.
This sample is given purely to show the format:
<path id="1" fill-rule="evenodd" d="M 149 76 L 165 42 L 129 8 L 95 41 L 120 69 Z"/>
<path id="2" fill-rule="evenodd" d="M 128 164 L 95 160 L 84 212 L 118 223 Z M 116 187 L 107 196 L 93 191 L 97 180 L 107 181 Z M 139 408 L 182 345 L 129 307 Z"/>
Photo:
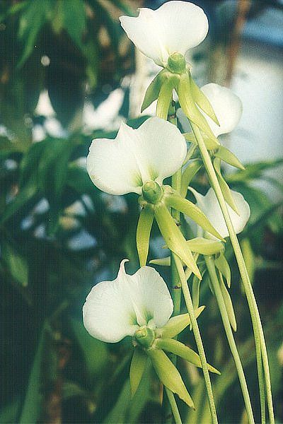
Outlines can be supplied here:
<path id="1" fill-rule="evenodd" d="M 76 319 L 70 319 L 71 328 L 74 331 L 76 341 L 79 343 L 81 352 L 86 363 L 88 376 L 91 382 L 96 375 L 100 375 L 108 360 L 108 351 L 105 343 L 91 337 L 83 326 L 83 323 Z"/>

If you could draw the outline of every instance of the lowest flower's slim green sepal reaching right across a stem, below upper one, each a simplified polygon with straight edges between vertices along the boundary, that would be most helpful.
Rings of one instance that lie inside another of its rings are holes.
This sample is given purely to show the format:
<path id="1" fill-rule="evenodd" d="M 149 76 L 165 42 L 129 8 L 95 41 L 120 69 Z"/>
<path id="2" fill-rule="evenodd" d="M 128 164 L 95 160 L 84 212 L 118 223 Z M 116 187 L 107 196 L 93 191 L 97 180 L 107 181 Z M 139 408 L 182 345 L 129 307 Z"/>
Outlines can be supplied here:
<path id="1" fill-rule="evenodd" d="M 202 363 L 200 361 L 200 356 L 197 355 L 195 351 L 191 348 L 184 345 L 178 340 L 174 338 L 158 338 L 156 339 L 156 348 L 163 349 L 164 351 L 173 353 L 174 355 L 180 356 L 192 363 L 196 367 L 202 368 Z M 212 365 L 207 364 L 209 371 L 214 372 L 215 374 L 220 375 L 220 372 L 216 370 L 216 368 L 212 367 Z"/>

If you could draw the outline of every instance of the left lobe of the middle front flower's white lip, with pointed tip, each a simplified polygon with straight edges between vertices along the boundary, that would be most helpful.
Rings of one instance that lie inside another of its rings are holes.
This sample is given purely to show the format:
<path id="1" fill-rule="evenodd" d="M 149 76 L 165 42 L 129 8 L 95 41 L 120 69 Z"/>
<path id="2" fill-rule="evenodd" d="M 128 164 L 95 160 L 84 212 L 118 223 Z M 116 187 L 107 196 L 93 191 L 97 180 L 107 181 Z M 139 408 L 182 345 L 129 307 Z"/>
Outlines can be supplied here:
<path id="1" fill-rule="evenodd" d="M 93 184 L 109 194 L 141 194 L 141 175 L 129 144 L 136 143 L 135 131 L 122 124 L 115 140 L 94 139 L 86 167 Z"/>

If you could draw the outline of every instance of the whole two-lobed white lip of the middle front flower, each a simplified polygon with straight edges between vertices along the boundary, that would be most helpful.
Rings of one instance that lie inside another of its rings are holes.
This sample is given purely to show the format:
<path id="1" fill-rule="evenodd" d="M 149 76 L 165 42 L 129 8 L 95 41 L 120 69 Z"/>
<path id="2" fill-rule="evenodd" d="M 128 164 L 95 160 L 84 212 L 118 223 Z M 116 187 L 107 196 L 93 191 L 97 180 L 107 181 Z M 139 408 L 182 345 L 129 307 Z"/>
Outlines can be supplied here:
<path id="1" fill-rule="evenodd" d="M 146 182 L 159 185 L 183 164 L 187 152 L 176 126 L 149 118 L 138 129 L 120 126 L 115 140 L 95 139 L 87 158 L 93 184 L 109 194 L 141 194 Z"/>

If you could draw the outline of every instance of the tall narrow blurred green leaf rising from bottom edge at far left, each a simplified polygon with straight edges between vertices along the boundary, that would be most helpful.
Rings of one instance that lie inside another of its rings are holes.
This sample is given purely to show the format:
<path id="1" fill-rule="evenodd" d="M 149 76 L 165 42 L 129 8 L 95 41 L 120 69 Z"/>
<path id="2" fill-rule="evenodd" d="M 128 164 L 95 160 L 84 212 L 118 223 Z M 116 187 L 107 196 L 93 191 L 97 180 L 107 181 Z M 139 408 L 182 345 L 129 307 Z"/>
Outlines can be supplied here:
<path id="1" fill-rule="evenodd" d="M 25 392 L 25 401 L 21 411 L 21 417 L 18 420 L 19 424 L 37 423 L 40 418 L 42 392 L 41 392 L 41 370 L 42 370 L 42 355 L 45 353 L 45 332 L 47 331 L 47 322 L 43 325 L 40 340 L 33 360 L 33 367 L 28 379 L 28 389 Z"/>

